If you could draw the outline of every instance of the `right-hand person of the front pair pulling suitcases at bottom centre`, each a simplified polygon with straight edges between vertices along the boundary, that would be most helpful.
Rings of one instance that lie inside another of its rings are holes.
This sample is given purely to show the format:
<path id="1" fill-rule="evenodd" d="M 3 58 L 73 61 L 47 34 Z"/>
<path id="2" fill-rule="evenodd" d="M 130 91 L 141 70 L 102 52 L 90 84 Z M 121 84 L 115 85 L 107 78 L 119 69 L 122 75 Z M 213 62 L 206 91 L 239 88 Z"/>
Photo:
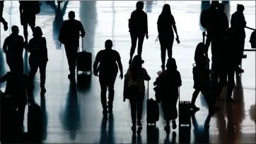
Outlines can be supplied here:
<path id="1" fill-rule="evenodd" d="M 166 70 L 159 73 L 158 78 L 153 83 L 160 86 L 161 89 L 161 104 L 163 116 L 166 121 L 165 131 L 170 131 L 170 121 L 173 123 L 173 129 L 177 128 L 176 121 L 178 117 L 177 101 L 178 89 L 182 85 L 180 72 L 177 70 L 175 59 L 169 58 L 166 64 Z"/>

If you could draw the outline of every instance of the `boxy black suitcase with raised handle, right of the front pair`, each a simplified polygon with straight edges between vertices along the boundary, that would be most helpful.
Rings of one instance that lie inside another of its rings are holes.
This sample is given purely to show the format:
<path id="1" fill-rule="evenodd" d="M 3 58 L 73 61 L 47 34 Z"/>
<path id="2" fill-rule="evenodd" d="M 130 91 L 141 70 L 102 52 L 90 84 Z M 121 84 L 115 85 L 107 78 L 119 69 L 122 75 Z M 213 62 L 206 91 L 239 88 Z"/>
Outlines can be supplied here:
<path id="1" fill-rule="evenodd" d="M 179 88 L 179 126 L 187 125 L 191 127 L 190 119 L 190 101 L 180 101 L 180 88 Z"/>

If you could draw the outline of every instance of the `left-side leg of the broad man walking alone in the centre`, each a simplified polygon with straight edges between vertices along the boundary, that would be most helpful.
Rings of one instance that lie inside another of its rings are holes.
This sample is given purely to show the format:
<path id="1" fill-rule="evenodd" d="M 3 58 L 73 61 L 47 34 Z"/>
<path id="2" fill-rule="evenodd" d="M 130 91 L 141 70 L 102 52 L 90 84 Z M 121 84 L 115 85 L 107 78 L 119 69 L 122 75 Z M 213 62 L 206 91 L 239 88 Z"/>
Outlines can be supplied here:
<path id="1" fill-rule="evenodd" d="M 107 116 L 107 82 L 105 76 L 99 76 L 100 80 L 100 100 L 103 106 L 103 116 Z"/>

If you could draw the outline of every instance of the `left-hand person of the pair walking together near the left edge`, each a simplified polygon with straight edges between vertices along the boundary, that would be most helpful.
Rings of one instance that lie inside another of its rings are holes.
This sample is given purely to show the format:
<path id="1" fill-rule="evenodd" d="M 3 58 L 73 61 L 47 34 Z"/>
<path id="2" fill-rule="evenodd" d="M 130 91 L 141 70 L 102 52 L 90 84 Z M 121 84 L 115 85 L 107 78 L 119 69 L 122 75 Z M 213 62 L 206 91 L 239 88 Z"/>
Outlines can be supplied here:
<path id="1" fill-rule="evenodd" d="M 18 67 L 18 70 L 23 72 L 23 48 L 24 39 L 21 35 L 18 35 L 18 26 L 13 25 L 11 27 L 11 35 L 4 40 L 4 53 L 6 53 L 6 62 L 11 71 L 14 67 Z"/>

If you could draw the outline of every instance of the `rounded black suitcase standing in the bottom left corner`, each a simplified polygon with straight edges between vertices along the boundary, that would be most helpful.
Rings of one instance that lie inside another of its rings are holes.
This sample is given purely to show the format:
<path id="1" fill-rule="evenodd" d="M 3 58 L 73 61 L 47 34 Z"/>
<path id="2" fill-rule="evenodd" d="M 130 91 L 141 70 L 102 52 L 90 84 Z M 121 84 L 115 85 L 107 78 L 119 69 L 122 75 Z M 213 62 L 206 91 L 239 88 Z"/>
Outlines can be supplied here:
<path id="1" fill-rule="evenodd" d="M 42 109 L 36 102 L 28 106 L 28 135 L 35 143 L 39 143 L 42 137 Z"/>

